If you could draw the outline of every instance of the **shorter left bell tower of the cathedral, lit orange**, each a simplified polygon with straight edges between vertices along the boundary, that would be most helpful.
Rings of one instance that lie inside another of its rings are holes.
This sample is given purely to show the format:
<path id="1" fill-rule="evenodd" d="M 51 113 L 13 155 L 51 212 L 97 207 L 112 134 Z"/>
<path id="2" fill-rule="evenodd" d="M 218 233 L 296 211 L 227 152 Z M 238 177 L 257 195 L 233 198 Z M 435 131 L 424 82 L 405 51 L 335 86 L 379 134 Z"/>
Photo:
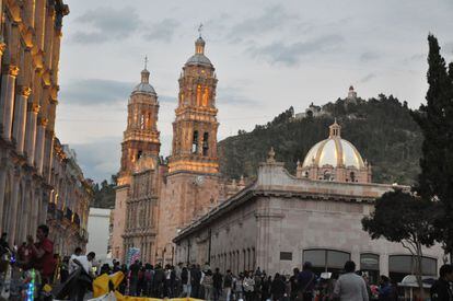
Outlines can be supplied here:
<path id="1" fill-rule="evenodd" d="M 159 102 L 158 94 L 149 83 L 150 72 L 144 66 L 141 82 L 130 94 L 127 106 L 127 127 L 121 142 L 121 166 L 118 181 L 126 180 L 133 171 L 137 161 L 144 153 L 159 155 L 161 142 L 158 130 Z M 126 183 L 118 183 L 123 185 Z"/>

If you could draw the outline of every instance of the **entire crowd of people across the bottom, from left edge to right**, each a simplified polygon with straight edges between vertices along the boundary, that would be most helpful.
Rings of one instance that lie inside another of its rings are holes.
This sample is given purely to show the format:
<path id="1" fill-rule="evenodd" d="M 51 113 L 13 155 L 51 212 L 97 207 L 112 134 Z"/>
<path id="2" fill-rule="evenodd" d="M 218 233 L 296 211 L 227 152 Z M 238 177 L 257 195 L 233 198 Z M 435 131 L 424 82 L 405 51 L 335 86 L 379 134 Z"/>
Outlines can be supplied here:
<path id="1" fill-rule="evenodd" d="M 179 298 L 191 297 L 202 300 L 245 300 L 245 301 L 395 301 L 398 299 L 397 285 L 386 276 L 380 277 L 379 286 L 369 283 L 367 274 L 356 270 L 351 261 L 345 264 L 341 275 L 328 274 L 327 279 L 318 277 L 312 264 L 304 263 L 302 270 L 294 268 L 292 275 L 267 275 L 258 267 L 255 270 L 244 270 L 233 275 L 231 270 L 224 274 L 219 268 L 205 265 L 176 266 L 143 264 L 135 261 L 127 266 L 114 261 L 113 266 L 104 264 L 93 268 L 95 254 L 83 254 L 77 247 L 71 256 L 65 256 L 60 262 L 54 254 L 54 244 L 48 239 L 49 229 L 42 224 L 37 228 L 36 241 L 32 236 L 20 247 L 10 248 L 8 234 L 0 238 L 0 255 L 9 255 L 7 266 L 16 267 L 25 273 L 36 270 L 39 275 L 36 281 L 36 296 L 46 285 L 55 286 L 60 282 L 61 289 L 56 297 L 70 300 L 83 300 L 91 289 L 93 279 L 102 274 L 121 271 L 125 277 L 117 288 L 119 292 L 133 297 Z M 4 269 L 4 261 L 0 265 Z M 0 288 L 4 287 L 4 273 L 1 275 Z M 8 275 L 8 274 L 7 274 Z M 443 265 L 440 268 L 440 278 L 430 291 L 432 301 L 453 301 L 451 283 L 453 267 Z M 1 291 L 0 291 L 1 293 Z M 3 297 L 3 296 L 1 296 Z"/>

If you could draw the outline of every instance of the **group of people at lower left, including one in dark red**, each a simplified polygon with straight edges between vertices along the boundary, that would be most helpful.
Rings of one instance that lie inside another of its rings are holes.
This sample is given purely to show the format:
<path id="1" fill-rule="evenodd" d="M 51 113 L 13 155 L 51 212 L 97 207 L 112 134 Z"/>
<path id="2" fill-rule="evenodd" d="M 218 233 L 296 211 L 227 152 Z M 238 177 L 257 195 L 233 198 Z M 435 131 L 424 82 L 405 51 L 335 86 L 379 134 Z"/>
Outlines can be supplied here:
<path id="1" fill-rule="evenodd" d="M 53 289 L 60 285 L 60 296 L 70 300 L 83 300 L 96 276 L 92 269 L 95 253 L 84 255 L 82 248 L 78 247 L 74 254 L 60 262 L 58 254 L 54 253 L 54 243 L 48 234 L 49 228 L 40 224 L 36 231 L 36 241 L 28 235 L 27 241 L 19 247 L 10 247 L 8 233 L 2 233 L 0 297 L 23 300 L 24 297 L 31 298 L 32 293 L 34 299 L 43 300 L 47 297 L 53 300 Z"/>

